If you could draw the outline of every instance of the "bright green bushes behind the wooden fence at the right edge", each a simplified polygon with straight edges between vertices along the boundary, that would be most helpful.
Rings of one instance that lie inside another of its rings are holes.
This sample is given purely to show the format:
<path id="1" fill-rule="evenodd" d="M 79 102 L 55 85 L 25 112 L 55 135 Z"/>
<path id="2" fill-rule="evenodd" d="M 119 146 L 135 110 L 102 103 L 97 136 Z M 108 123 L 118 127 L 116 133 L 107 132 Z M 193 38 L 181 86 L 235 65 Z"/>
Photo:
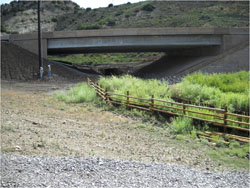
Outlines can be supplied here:
<path id="1" fill-rule="evenodd" d="M 195 73 L 170 88 L 172 97 L 179 97 L 199 103 L 214 105 L 217 108 L 228 107 L 229 111 L 249 110 L 249 81 L 247 72 L 232 74 L 203 75 Z M 240 84 L 242 81 L 242 84 Z M 217 83 L 218 82 L 218 83 Z M 226 83 L 230 86 L 226 89 Z M 237 87 L 235 86 L 237 85 Z"/>

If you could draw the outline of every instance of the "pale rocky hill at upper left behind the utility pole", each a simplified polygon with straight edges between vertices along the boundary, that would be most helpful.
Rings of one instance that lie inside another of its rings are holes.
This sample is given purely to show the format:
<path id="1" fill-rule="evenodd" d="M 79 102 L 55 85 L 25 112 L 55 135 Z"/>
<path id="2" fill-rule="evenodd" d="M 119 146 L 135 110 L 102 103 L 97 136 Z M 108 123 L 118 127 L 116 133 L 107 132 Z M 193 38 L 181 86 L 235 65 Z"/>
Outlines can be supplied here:
<path id="1" fill-rule="evenodd" d="M 57 18 L 74 13 L 80 7 L 71 1 L 42 1 L 41 25 L 43 31 L 54 31 Z M 12 1 L 1 5 L 1 32 L 28 33 L 37 30 L 37 2 Z"/>

